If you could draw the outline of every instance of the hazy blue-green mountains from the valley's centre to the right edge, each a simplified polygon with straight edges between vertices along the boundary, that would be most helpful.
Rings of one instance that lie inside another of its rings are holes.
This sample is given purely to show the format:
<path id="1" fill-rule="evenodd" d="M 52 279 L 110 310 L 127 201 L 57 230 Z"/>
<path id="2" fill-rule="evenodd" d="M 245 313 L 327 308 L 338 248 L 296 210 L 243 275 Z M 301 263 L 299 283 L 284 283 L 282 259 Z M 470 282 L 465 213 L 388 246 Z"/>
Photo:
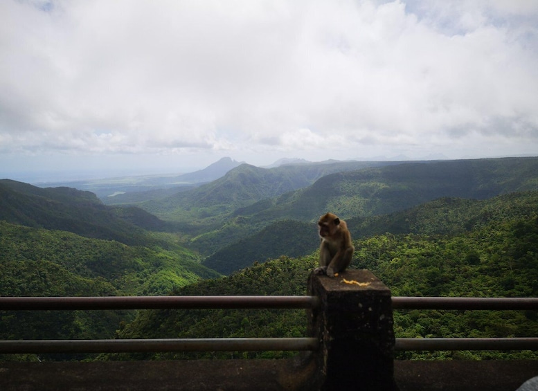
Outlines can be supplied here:
<path id="1" fill-rule="evenodd" d="M 176 222 L 191 248 L 207 257 L 280 220 L 312 227 L 328 210 L 350 219 L 384 215 L 440 197 L 487 199 L 537 188 L 538 158 L 383 162 L 377 167 L 362 163 L 366 167 L 361 169 L 356 164 L 270 170 L 240 165 L 212 183 L 136 205 Z"/>

